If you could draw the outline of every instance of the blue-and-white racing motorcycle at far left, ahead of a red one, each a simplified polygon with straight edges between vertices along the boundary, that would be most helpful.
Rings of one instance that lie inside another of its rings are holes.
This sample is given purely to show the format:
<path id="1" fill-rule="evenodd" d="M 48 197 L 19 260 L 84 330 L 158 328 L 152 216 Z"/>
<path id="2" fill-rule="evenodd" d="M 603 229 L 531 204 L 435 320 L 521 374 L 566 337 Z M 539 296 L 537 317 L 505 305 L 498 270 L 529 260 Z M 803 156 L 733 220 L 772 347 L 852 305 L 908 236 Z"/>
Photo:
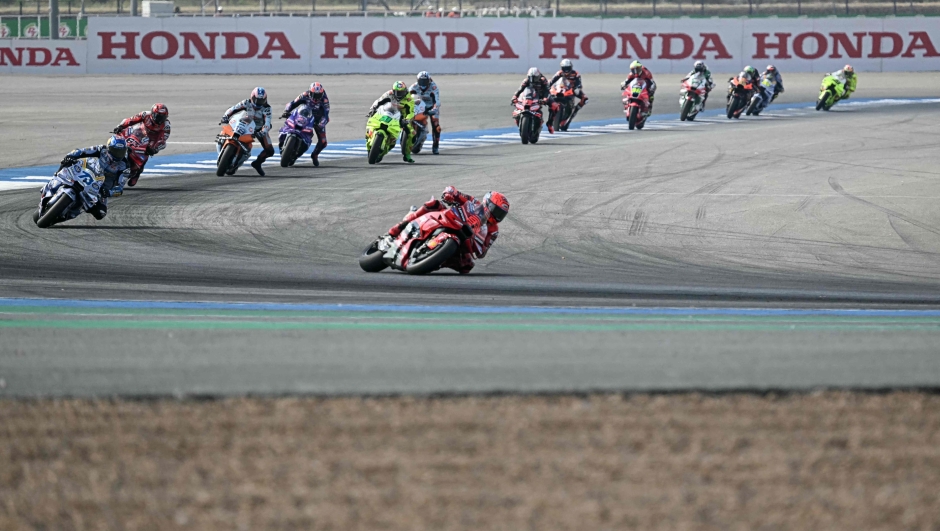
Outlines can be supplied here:
<path id="1" fill-rule="evenodd" d="M 125 170 L 129 171 L 129 170 Z M 56 223 L 78 217 L 98 203 L 105 175 L 101 167 L 81 159 L 55 173 L 42 187 L 39 208 L 33 213 L 33 222 L 44 229 Z M 113 194 L 121 195 L 119 192 Z"/>

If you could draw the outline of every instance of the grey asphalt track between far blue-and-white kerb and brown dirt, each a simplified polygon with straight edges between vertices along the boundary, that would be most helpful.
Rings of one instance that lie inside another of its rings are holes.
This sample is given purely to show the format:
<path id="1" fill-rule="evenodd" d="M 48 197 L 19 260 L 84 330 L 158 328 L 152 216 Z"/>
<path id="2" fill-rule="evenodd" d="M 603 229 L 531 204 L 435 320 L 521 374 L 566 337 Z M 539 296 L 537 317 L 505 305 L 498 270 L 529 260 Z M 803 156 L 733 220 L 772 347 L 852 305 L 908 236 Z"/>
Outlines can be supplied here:
<path id="1" fill-rule="evenodd" d="M 0 192 L 0 394 L 936 387 L 938 118 L 846 106 L 154 178 L 48 230 L 35 189 Z M 470 275 L 359 270 L 448 184 L 512 201 Z"/>

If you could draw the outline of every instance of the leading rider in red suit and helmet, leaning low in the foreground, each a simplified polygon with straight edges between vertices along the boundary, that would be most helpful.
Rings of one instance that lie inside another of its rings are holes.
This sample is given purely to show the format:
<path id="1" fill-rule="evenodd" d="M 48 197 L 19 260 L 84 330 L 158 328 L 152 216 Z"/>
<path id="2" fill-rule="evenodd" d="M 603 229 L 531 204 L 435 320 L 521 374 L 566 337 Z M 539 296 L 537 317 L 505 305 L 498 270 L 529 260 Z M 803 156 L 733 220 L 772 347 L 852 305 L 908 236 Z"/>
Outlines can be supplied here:
<path id="1" fill-rule="evenodd" d="M 409 212 L 401 223 L 388 230 L 388 234 L 397 237 L 405 226 L 415 219 L 428 212 L 450 207 L 454 207 L 460 219 L 473 229 L 473 238 L 467 239 L 457 254 L 445 262 L 443 267 L 449 267 L 465 275 L 473 269 L 473 260 L 486 256 L 487 251 L 496 242 L 496 237 L 499 235 L 499 223 L 506 219 L 509 213 L 509 200 L 503 194 L 492 191 L 479 201 L 472 195 L 461 193 L 453 186 L 448 186 L 441 194 L 440 200 L 432 197 L 421 208 Z"/>

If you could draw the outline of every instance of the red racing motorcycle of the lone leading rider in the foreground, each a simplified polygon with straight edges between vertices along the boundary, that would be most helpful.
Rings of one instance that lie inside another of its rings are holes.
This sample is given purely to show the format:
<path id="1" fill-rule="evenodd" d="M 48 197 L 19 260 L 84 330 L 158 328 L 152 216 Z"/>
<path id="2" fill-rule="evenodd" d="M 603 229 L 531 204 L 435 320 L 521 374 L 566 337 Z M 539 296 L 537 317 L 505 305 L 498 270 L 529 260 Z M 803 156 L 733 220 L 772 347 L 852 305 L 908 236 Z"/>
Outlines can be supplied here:
<path id="1" fill-rule="evenodd" d="M 387 267 L 412 275 L 437 271 L 473 237 L 453 208 L 427 214 L 405 225 L 397 237 L 380 236 L 359 257 L 359 267 L 378 273 Z"/>

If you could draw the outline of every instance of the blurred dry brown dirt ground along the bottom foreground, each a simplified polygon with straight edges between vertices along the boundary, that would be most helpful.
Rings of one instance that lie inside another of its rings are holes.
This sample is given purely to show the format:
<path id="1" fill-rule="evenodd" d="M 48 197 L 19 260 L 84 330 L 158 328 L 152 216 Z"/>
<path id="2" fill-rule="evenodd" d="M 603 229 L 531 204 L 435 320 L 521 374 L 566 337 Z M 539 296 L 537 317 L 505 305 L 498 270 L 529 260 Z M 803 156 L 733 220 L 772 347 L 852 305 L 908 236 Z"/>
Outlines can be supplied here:
<path id="1" fill-rule="evenodd" d="M 940 529 L 940 395 L 0 401 L 0 529 Z"/>

